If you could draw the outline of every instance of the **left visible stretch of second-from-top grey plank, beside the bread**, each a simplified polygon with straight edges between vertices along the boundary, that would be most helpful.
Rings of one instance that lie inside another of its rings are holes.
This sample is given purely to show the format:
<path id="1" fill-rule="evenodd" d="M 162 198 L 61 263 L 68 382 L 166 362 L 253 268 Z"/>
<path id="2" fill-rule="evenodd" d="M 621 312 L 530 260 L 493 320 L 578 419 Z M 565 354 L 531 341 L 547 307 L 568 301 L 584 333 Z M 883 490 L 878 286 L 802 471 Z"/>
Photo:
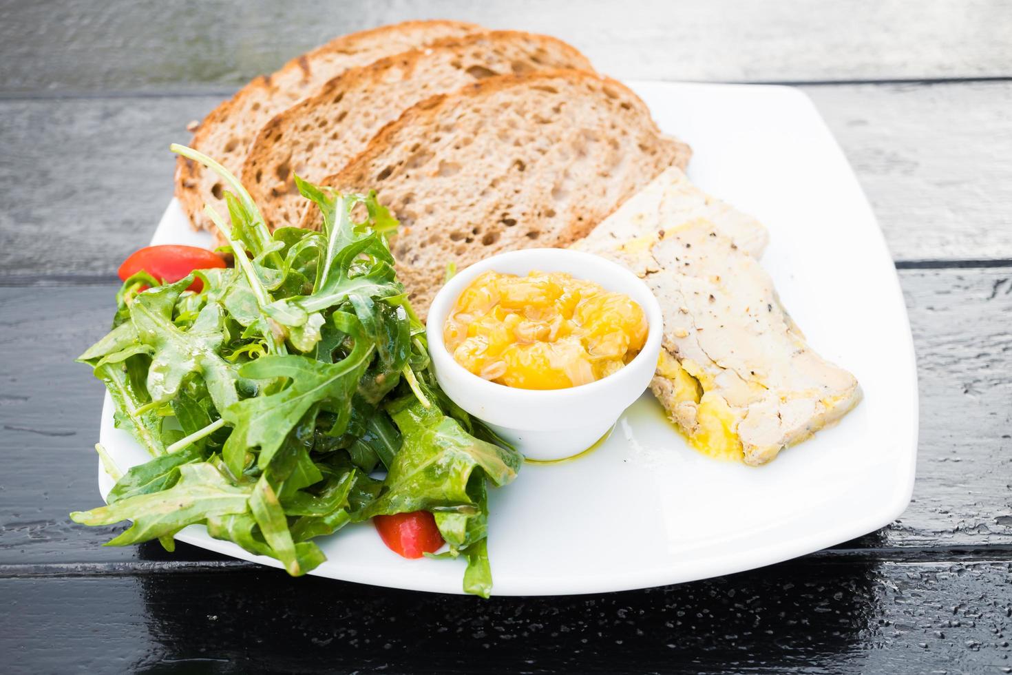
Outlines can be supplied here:
<path id="1" fill-rule="evenodd" d="M 172 197 L 169 144 L 216 100 L 0 102 L 2 273 L 114 274 Z"/>

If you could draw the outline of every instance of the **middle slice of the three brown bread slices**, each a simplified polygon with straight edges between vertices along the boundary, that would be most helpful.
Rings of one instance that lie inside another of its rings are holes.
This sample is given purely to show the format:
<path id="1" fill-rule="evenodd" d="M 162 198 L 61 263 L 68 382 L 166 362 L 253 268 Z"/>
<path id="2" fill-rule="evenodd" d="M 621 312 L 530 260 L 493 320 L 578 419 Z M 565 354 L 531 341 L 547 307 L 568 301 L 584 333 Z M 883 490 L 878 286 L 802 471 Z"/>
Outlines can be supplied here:
<path id="1" fill-rule="evenodd" d="M 292 174 L 315 182 L 344 168 L 385 124 L 415 103 L 496 75 L 591 70 L 576 49 L 514 30 L 447 38 L 353 68 L 267 122 L 243 165 L 244 183 L 271 229 L 298 225 L 307 201 Z"/>

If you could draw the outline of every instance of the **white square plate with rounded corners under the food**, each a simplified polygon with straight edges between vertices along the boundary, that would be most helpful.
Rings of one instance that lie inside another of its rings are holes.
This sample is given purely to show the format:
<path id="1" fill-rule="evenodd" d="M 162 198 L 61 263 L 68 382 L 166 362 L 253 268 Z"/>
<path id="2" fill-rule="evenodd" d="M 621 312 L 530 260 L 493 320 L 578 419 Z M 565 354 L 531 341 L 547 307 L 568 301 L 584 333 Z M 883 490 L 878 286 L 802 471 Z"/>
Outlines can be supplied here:
<path id="1" fill-rule="evenodd" d="M 812 102 L 786 87 L 632 83 L 661 128 L 689 143 L 689 176 L 769 229 L 763 265 L 823 356 L 864 401 L 834 428 L 753 469 L 689 448 L 647 394 L 578 460 L 525 466 L 491 494 L 497 595 L 603 593 L 703 579 L 812 553 L 894 520 L 910 501 L 917 379 L 896 269 L 843 153 Z M 173 201 L 154 243 L 206 244 Z M 121 468 L 147 457 L 112 426 Z M 111 481 L 101 469 L 102 494 Z M 279 567 L 190 526 L 177 538 Z M 369 525 L 320 540 L 311 574 L 459 593 L 462 561 L 407 561 Z"/>

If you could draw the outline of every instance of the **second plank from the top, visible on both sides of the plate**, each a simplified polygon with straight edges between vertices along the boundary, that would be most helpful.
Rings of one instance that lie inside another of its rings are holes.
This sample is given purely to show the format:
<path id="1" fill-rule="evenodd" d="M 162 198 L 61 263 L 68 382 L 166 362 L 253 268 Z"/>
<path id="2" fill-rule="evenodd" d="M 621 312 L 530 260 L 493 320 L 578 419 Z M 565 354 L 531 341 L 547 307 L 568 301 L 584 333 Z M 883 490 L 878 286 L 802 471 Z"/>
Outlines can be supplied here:
<path id="1" fill-rule="evenodd" d="M 805 90 L 897 258 L 1012 258 L 1012 83 Z M 0 275 L 111 274 L 170 197 L 168 144 L 216 101 L 0 101 Z"/>

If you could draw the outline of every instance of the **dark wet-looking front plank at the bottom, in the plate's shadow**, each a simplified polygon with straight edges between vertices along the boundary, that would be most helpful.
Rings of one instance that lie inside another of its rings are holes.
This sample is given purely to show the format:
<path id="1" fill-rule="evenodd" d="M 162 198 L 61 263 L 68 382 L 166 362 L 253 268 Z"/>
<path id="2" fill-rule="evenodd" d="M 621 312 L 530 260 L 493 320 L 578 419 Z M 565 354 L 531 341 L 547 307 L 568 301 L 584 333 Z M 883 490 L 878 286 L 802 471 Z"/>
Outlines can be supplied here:
<path id="1" fill-rule="evenodd" d="M 16 673 L 1001 673 L 1010 572 L 810 561 L 489 601 L 273 570 L 15 578 L 0 580 L 0 648 Z"/>

